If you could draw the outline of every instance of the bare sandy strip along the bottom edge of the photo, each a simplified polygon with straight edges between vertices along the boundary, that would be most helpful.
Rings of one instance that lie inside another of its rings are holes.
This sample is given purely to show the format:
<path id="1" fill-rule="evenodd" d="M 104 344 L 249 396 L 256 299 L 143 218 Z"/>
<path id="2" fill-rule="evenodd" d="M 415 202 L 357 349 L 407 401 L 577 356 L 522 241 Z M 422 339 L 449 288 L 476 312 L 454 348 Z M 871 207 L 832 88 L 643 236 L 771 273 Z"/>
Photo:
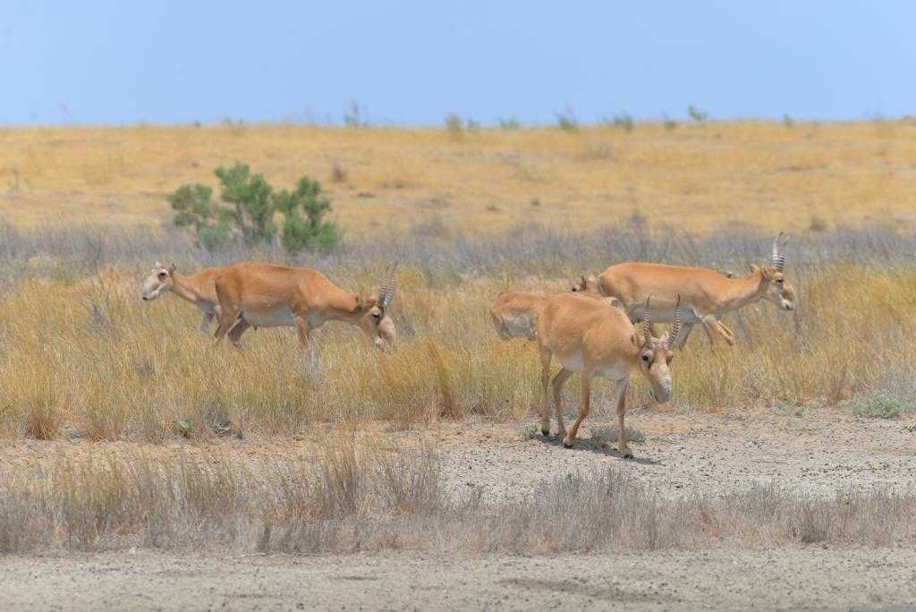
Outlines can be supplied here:
<path id="1" fill-rule="evenodd" d="M 916 552 L 0 558 L 0 608 L 861 609 L 916 607 Z"/>

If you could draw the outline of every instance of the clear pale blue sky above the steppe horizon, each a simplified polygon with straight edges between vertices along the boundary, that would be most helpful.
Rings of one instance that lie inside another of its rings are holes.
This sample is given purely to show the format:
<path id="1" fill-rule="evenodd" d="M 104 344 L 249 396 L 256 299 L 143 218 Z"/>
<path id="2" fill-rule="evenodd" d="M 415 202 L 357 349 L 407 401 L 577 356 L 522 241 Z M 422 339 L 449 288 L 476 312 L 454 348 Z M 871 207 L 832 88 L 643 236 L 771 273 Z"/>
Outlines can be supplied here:
<path id="1" fill-rule="evenodd" d="M 916 3 L 3 0 L 0 124 L 916 114 Z"/>

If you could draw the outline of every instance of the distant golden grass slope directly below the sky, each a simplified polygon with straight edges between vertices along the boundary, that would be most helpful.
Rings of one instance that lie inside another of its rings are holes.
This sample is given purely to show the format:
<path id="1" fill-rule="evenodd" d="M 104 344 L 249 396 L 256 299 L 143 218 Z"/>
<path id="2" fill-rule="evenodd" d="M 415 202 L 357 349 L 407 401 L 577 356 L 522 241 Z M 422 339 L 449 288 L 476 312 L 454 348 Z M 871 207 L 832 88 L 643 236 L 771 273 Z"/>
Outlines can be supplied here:
<path id="1" fill-rule="evenodd" d="M 158 225 L 164 195 L 244 161 L 310 174 L 351 236 L 441 220 L 455 234 L 588 229 L 637 211 L 702 234 L 916 223 L 916 125 L 725 123 L 625 132 L 256 126 L 0 129 L 0 212 L 15 224 Z M 332 180 L 337 164 L 344 180 Z M 537 202 L 532 205 L 532 202 Z"/>

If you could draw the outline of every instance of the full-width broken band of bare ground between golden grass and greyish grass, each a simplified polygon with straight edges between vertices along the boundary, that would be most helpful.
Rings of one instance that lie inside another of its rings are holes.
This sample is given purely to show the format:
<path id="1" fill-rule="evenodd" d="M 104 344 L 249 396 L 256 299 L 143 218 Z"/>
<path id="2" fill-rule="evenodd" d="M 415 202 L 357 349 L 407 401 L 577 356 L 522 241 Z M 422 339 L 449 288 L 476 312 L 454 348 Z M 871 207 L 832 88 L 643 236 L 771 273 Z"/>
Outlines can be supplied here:
<path id="1" fill-rule="evenodd" d="M 590 416 L 573 449 L 538 433 L 524 440 L 520 430 L 536 425 L 486 421 L 442 422 L 410 432 L 390 425 L 364 424 L 358 434 L 370 446 L 404 448 L 427 444 L 442 459 L 446 486 L 477 487 L 488 499 L 537 495 L 558 475 L 595 469 L 621 469 L 664 497 L 685 490 L 725 494 L 754 483 L 772 483 L 818 496 L 847 486 L 916 486 L 916 414 L 899 419 L 858 418 L 842 410 L 750 410 L 729 414 L 633 410 L 627 427 L 638 428 L 645 443 L 631 443 L 632 461 L 616 452 L 616 441 L 597 442 L 593 429 L 616 424 L 600 411 Z M 554 426 L 555 427 L 555 426 Z M 206 454 L 225 451 L 255 469 L 295 462 L 311 464 L 320 435 L 305 439 L 246 438 L 211 443 L 160 445 L 88 442 L 14 442 L 0 447 L 0 473 L 24 472 L 64 459 L 100 453 Z M 322 434 L 323 435 L 323 434 Z M 334 442 L 333 434 L 325 443 Z"/>

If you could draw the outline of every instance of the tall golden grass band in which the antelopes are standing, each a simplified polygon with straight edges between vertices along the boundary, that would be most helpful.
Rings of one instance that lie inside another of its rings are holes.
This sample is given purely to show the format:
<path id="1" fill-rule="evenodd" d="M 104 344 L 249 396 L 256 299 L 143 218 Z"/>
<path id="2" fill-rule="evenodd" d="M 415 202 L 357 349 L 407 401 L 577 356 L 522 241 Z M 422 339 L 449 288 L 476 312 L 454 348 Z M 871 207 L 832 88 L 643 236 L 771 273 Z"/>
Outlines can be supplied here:
<path id="1" fill-rule="evenodd" d="M 527 417 L 539 405 L 536 350 L 499 340 L 487 304 L 507 285 L 569 285 L 487 277 L 432 288 L 406 267 L 396 351 L 378 352 L 354 328 L 329 323 L 300 355 L 288 329 L 249 332 L 242 351 L 214 346 L 197 331 L 191 305 L 170 295 L 140 301 L 142 278 L 142 270 L 111 268 L 73 282 L 23 280 L 5 294 L 6 436 L 155 442 L 212 438 L 214 430 L 289 436 L 369 420 L 409 428 L 470 415 Z M 364 287 L 375 280 L 356 271 L 348 279 Z M 675 399 L 660 410 L 816 409 L 880 389 L 911 392 L 916 268 L 824 265 L 807 269 L 800 289 L 801 308 L 791 314 L 761 302 L 726 317 L 741 337 L 735 347 L 713 352 L 694 330 L 673 366 Z M 629 405 L 645 405 L 633 380 Z M 578 387 L 567 388 L 569 409 Z M 611 413 L 610 391 L 596 385 L 598 415 Z"/>

